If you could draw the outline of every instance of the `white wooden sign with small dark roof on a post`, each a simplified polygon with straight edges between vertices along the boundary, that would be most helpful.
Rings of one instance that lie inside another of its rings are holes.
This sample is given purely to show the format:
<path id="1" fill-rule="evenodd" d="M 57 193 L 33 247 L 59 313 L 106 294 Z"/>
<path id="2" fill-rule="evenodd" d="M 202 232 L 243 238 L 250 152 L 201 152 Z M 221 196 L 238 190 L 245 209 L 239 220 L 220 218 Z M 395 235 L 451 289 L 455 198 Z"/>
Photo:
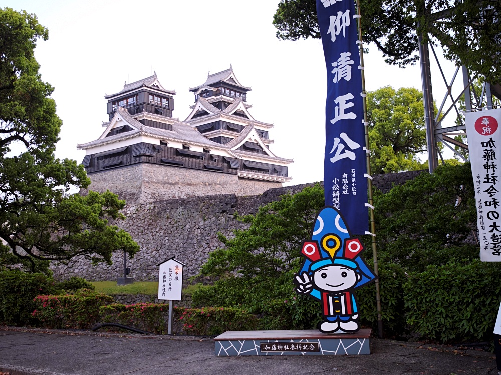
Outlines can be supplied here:
<path id="1" fill-rule="evenodd" d="M 158 300 L 169 301 L 169 328 L 167 334 L 172 332 L 172 301 L 180 301 L 182 299 L 183 289 L 183 266 L 173 256 L 164 262 L 157 264 L 158 272 Z"/>

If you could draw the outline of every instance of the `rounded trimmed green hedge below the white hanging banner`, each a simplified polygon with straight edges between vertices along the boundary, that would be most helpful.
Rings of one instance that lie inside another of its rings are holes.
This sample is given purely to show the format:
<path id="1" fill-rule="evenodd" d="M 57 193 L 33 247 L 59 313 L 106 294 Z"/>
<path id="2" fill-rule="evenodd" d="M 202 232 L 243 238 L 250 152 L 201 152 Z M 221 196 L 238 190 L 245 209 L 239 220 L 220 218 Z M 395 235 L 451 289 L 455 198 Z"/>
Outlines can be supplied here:
<path id="1" fill-rule="evenodd" d="M 473 260 L 429 266 L 404 286 L 407 323 L 424 338 L 440 342 L 491 341 L 501 266 Z"/>

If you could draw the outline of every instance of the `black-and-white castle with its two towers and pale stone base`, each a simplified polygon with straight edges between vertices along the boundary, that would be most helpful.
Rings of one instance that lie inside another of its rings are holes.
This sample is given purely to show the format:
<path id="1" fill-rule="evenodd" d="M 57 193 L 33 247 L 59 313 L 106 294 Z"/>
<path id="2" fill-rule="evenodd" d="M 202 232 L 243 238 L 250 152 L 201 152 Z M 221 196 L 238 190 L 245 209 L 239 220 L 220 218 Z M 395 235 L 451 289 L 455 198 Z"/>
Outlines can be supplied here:
<path id="1" fill-rule="evenodd" d="M 128 83 L 108 100 L 102 135 L 79 144 L 93 191 L 106 189 L 127 203 L 212 194 L 255 195 L 291 180 L 293 160 L 270 150 L 272 124 L 249 113 L 250 87 L 233 69 L 209 74 L 189 89 L 195 104 L 173 118 L 175 91 L 156 73 Z"/>

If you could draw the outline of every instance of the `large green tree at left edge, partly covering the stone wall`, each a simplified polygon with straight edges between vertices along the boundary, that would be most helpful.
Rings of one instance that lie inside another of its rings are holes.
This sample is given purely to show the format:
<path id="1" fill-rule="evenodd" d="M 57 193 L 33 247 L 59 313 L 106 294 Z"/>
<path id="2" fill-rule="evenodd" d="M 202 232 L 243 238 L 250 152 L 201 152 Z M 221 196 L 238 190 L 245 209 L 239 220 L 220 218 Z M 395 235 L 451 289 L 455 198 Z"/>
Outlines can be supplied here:
<path id="1" fill-rule="evenodd" d="M 125 202 L 106 192 L 70 194 L 90 184 L 82 165 L 54 156 L 61 120 L 39 74 L 34 48 L 48 31 L 34 14 L 0 9 L 0 267 L 31 271 L 82 255 L 111 263 L 112 251 L 138 251 L 108 225 Z"/>

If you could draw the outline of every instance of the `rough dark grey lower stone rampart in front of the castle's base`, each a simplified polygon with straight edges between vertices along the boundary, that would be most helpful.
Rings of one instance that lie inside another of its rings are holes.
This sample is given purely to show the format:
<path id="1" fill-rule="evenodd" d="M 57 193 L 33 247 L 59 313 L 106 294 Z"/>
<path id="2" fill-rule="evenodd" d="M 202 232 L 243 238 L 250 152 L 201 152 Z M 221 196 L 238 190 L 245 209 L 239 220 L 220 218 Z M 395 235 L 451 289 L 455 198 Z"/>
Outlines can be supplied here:
<path id="1" fill-rule="evenodd" d="M 393 184 L 401 184 L 418 174 L 375 176 L 373 184 L 387 192 Z M 233 230 L 243 228 L 235 219 L 235 212 L 241 215 L 256 213 L 260 206 L 279 199 L 280 195 L 296 193 L 314 184 L 273 188 L 254 196 L 225 194 L 128 204 L 123 211 L 126 219 L 118 226 L 128 231 L 141 248 L 133 259 L 127 260 L 131 276 L 135 280 L 156 281 L 156 265 L 172 256 L 187 265 L 187 277 L 196 275 L 208 254 L 221 246 L 217 232 L 231 236 Z M 92 266 L 88 261 L 79 260 L 70 266 L 57 265 L 52 269 L 57 279 L 79 276 L 91 281 L 115 280 L 123 277 L 123 253 L 113 255 L 111 266 Z"/>

